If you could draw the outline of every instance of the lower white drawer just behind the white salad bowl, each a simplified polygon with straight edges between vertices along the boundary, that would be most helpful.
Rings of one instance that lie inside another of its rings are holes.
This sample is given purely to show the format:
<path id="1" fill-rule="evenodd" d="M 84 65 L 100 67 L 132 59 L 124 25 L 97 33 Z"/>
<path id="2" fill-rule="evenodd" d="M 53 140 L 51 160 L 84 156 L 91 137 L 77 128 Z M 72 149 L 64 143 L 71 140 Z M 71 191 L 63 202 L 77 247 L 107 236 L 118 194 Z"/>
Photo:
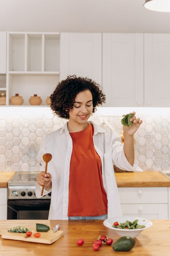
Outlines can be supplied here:
<path id="1" fill-rule="evenodd" d="M 124 216 L 146 219 L 168 219 L 168 204 L 121 204 Z"/>

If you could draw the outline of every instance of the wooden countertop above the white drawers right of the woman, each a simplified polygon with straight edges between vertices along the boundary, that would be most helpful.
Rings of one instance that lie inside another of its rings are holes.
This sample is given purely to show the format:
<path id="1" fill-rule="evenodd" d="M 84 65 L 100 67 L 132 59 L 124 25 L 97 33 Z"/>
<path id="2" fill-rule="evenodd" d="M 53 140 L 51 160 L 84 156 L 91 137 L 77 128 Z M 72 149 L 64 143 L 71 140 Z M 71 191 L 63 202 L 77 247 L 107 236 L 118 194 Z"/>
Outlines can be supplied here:
<path id="1" fill-rule="evenodd" d="M 159 171 L 116 172 L 118 187 L 170 187 L 170 180 Z"/>

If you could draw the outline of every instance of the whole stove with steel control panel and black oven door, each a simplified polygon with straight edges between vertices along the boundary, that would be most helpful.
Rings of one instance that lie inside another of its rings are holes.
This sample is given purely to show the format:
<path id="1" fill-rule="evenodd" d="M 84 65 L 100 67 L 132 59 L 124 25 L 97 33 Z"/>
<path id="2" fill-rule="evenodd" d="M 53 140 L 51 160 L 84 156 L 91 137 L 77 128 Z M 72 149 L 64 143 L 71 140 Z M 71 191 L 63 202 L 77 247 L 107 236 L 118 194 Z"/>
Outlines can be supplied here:
<path id="1" fill-rule="evenodd" d="M 16 172 L 8 181 L 7 219 L 48 219 L 51 193 L 35 196 L 39 172 Z"/>

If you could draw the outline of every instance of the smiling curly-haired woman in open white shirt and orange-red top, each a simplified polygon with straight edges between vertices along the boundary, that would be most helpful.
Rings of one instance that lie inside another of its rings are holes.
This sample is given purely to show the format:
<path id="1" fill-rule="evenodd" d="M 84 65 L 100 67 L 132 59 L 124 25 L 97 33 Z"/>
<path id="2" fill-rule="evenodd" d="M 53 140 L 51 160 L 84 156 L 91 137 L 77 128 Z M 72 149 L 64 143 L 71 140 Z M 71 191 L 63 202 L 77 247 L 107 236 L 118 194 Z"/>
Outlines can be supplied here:
<path id="1" fill-rule="evenodd" d="M 43 185 L 43 195 L 51 192 L 49 219 L 121 216 L 113 164 L 122 170 L 142 171 L 134 163 L 133 144 L 142 121 L 133 112 L 132 126 L 123 126 L 124 144 L 110 127 L 88 122 L 96 106 L 105 102 L 99 85 L 88 78 L 68 76 L 50 99 L 51 109 L 68 122 L 48 134 L 40 147 L 41 159 L 45 153 L 52 154 L 49 173 L 40 171 L 35 188 L 38 198 Z"/>

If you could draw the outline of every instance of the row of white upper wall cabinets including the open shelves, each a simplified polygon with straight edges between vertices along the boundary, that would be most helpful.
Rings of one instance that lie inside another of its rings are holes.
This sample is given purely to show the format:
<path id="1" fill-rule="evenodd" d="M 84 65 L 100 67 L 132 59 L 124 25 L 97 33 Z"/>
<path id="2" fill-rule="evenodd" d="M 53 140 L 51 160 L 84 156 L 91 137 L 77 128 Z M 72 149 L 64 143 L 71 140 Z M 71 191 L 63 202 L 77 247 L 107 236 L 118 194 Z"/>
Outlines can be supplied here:
<path id="1" fill-rule="evenodd" d="M 0 93 L 46 104 L 59 81 L 87 76 L 105 107 L 169 107 L 170 34 L 0 32 Z"/>

